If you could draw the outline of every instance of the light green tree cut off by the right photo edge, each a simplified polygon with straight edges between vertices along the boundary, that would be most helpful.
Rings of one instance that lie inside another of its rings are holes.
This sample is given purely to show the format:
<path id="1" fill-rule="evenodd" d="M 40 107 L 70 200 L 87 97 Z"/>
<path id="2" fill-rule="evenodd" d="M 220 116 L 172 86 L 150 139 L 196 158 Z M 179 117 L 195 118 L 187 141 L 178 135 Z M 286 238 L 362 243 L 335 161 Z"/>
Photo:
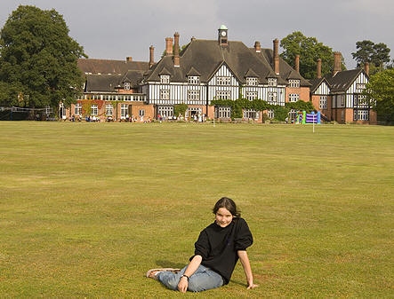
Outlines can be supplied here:
<path id="1" fill-rule="evenodd" d="M 386 69 L 371 75 L 364 95 L 375 102 L 378 118 L 384 122 L 394 122 L 394 69 Z"/>

